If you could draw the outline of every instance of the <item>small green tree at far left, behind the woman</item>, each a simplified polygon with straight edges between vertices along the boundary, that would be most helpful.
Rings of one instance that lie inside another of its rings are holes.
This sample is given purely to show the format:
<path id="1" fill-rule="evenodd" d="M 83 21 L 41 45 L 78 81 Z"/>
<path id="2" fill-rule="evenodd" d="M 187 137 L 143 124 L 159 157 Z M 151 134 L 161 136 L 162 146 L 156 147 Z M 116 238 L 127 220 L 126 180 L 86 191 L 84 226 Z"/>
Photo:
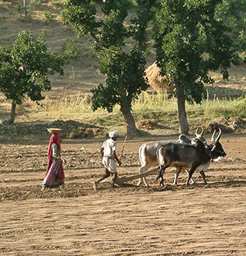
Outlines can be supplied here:
<path id="1" fill-rule="evenodd" d="M 0 91 L 7 100 L 12 100 L 11 117 L 16 117 L 16 105 L 21 104 L 27 96 L 33 101 L 43 100 L 43 90 L 50 90 L 47 75 L 59 72 L 66 59 L 59 52 L 47 53 L 46 33 L 40 32 L 34 39 L 26 30 L 19 33 L 10 50 L 7 46 L 0 47 Z"/>

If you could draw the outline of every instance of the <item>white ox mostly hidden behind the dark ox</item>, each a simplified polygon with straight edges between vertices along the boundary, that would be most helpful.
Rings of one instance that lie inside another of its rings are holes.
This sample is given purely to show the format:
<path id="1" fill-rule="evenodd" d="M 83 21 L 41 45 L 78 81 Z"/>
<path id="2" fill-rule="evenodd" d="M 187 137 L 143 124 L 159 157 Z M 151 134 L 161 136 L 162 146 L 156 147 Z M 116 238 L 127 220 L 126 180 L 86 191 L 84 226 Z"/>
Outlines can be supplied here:
<path id="1" fill-rule="evenodd" d="M 199 134 L 199 129 L 201 127 L 196 129 L 196 138 L 195 139 L 200 139 L 203 143 L 206 143 L 206 139 L 203 138 L 203 128 L 202 132 Z M 186 137 L 186 135 L 181 134 L 178 136 L 178 140 L 176 141 L 176 143 L 194 143 L 195 139 L 189 139 Z M 165 144 L 167 144 L 168 142 L 165 141 L 161 141 L 161 142 L 148 142 L 148 143 L 144 143 L 142 146 L 140 146 L 139 148 L 139 160 L 140 160 L 140 169 L 139 172 L 144 173 L 146 172 L 150 167 L 155 167 L 153 169 L 153 171 L 158 171 L 158 167 L 159 167 L 159 163 L 158 163 L 158 158 L 157 158 L 157 149 L 160 146 L 164 146 Z M 175 179 L 173 184 L 177 184 L 177 179 L 178 179 L 178 175 L 180 174 L 180 171 L 182 170 L 182 168 L 177 168 L 175 171 Z M 188 170 L 185 170 L 185 172 L 187 174 L 189 174 Z M 203 181 L 204 184 L 206 184 L 206 175 L 204 173 L 203 170 L 199 171 L 199 174 L 203 177 Z M 195 182 L 195 180 L 192 178 L 192 183 Z M 147 178 L 146 177 L 141 177 L 140 180 L 138 181 L 137 185 L 140 186 L 140 184 L 143 184 L 148 187 L 148 183 L 147 183 Z"/>

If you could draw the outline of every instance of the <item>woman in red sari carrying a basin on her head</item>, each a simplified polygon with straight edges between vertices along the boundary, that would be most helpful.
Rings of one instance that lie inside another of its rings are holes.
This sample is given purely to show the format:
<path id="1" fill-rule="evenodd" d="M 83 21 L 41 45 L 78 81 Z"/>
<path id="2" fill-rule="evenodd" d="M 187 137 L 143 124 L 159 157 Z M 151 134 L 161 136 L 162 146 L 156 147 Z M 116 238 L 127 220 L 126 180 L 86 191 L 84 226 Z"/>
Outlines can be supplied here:
<path id="1" fill-rule="evenodd" d="M 64 170 L 61 159 L 61 138 L 59 132 L 61 129 L 49 128 L 48 132 L 52 133 L 48 147 L 48 164 L 47 171 L 42 183 L 42 191 L 45 188 L 57 188 L 61 185 L 64 187 Z"/>

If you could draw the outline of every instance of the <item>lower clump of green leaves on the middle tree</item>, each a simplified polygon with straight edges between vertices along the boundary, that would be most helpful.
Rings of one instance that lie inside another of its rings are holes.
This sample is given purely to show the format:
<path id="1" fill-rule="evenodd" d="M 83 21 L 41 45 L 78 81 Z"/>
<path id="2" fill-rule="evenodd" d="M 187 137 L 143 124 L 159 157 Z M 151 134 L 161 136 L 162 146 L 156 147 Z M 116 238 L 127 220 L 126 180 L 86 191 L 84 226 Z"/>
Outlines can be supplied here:
<path id="1" fill-rule="evenodd" d="M 106 86 L 92 89 L 92 109 L 102 107 L 112 112 L 116 104 L 130 109 L 132 100 L 147 89 L 143 56 L 136 49 L 126 54 L 116 47 L 106 51 L 100 65 L 102 74 L 107 75 Z"/>

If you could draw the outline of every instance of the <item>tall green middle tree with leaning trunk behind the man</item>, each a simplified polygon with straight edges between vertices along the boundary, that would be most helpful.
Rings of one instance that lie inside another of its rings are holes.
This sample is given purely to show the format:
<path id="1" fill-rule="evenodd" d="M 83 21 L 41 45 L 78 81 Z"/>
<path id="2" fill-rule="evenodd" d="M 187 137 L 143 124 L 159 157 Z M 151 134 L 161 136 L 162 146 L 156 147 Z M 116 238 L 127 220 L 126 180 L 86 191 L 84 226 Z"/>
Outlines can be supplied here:
<path id="1" fill-rule="evenodd" d="M 112 112 L 119 104 L 127 134 L 135 136 L 137 128 L 131 106 L 140 92 L 147 89 L 144 51 L 147 50 L 146 30 L 154 1 L 136 1 L 130 26 L 126 24 L 128 13 L 124 2 L 105 0 L 95 5 L 90 0 L 68 0 L 62 16 L 64 23 L 71 24 L 78 37 L 93 38 L 92 49 L 100 58 L 100 72 L 106 75 L 106 82 L 92 89 L 92 109 L 102 107 Z M 126 46 L 126 40 L 132 47 Z"/>

